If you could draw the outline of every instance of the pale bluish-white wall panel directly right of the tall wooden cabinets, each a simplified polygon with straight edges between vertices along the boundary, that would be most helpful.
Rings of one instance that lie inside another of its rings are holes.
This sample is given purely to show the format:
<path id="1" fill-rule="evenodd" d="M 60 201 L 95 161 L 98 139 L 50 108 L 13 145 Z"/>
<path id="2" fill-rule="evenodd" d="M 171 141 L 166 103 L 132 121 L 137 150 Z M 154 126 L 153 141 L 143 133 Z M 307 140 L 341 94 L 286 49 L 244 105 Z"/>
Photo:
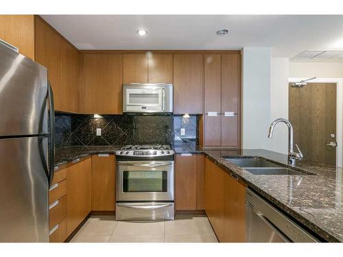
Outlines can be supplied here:
<path id="1" fill-rule="evenodd" d="M 242 147 L 269 149 L 270 47 L 244 47 L 242 71 Z"/>

